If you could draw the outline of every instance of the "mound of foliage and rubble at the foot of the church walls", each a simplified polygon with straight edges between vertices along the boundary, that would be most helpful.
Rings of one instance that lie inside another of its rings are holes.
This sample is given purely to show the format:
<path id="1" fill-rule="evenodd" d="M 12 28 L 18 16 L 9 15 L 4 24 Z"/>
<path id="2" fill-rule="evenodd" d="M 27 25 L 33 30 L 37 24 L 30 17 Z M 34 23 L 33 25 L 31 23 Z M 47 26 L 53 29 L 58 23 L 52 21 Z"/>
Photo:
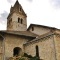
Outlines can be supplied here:
<path id="1" fill-rule="evenodd" d="M 33 57 L 31 55 L 28 55 L 27 53 L 24 53 L 23 56 L 15 56 L 10 58 L 9 60 L 41 60 L 41 59 L 39 59 L 36 56 Z"/>

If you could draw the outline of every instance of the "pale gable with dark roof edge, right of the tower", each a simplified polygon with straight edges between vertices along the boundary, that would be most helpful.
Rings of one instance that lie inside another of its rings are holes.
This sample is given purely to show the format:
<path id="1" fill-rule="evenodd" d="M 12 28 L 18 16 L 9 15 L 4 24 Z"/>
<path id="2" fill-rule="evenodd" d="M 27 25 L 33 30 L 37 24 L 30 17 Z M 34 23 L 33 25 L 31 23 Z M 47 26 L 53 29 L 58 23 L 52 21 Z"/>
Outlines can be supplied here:
<path id="1" fill-rule="evenodd" d="M 31 24 L 27 30 L 32 32 L 32 33 L 35 33 L 37 35 L 43 35 L 43 34 L 46 34 L 54 29 L 56 29 L 56 28 L 43 26 L 43 25 Z"/>

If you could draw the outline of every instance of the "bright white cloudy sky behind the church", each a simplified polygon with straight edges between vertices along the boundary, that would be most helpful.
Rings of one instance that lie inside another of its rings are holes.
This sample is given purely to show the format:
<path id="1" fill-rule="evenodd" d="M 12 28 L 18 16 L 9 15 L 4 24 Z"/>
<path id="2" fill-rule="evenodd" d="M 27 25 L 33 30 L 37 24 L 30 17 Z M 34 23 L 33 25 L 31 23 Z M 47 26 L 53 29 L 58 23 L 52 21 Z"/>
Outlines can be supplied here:
<path id="1" fill-rule="evenodd" d="M 18 0 L 27 14 L 27 25 L 60 29 L 60 0 Z M 7 16 L 16 0 L 0 0 L 0 30 L 7 29 Z"/>

